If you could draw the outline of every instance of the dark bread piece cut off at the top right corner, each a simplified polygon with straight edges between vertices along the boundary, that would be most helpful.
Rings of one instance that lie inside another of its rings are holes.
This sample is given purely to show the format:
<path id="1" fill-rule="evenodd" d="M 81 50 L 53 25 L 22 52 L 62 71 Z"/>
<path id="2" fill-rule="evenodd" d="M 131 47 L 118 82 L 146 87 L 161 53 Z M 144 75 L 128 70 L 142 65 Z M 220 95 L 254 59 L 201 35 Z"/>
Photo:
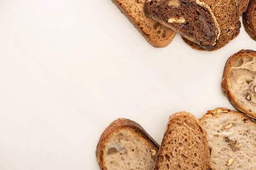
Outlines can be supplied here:
<path id="1" fill-rule="evenodd" d="M 243 13 L 245 31 L 256 41 L 256 0 L 250 0 L 247 11 Z"/>

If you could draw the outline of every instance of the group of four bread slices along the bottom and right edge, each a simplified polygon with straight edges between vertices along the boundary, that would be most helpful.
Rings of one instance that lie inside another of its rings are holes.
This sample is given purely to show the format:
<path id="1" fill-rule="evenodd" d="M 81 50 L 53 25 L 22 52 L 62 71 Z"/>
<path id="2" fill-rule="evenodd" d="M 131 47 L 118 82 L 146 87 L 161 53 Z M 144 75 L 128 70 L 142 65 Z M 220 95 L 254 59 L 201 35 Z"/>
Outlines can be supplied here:
<path id="1" fill-rule="evenodd" d="M 197 119 L 169 117 L 161 145 L 136 122 L 117 119 L 96 149 L 101 170 L 256 170 L 256 51 L 225 65 L 222 91 L 238 111 L 216 108 Z"/>

